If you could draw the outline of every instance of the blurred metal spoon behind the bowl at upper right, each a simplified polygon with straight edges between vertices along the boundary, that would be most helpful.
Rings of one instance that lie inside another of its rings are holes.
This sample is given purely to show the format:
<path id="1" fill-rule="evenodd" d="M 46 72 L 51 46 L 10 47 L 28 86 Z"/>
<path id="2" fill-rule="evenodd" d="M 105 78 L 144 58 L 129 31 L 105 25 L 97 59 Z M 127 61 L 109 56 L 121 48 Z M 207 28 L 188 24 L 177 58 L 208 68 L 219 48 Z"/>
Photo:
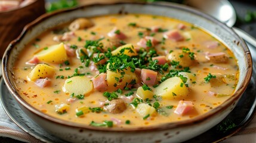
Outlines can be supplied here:
<path id="1" fill-rule="evenodd" d="M 256 55 L 256 39 L 245 31 L 233 27 L 236 22 L 236 12 L 232 4 L 227 0 L 187 0 L 186 4 L 203 11 L 218 20 L 232 27 L 236 33 L 247 43 L 252 55 Z M 256 57 L 252 56 L 252 60 L 256 62 Z"/>

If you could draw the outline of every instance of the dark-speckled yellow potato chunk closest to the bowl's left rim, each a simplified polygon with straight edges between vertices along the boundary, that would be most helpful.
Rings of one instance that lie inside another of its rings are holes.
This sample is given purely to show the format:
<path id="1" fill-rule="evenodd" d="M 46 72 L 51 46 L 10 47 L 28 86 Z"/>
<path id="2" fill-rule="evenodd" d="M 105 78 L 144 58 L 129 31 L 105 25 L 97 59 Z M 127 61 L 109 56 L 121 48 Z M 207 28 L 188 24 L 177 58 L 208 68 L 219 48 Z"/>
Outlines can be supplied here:
<path id="1" fill-rule="evenodd" d="M 30 71 L 27 76 L 29 80 L 34 81 L 36 79 L 44 79 L 46 77 L 52 77 L 55 73 L 55 69 L 47 64 L 38 64 Z"/>

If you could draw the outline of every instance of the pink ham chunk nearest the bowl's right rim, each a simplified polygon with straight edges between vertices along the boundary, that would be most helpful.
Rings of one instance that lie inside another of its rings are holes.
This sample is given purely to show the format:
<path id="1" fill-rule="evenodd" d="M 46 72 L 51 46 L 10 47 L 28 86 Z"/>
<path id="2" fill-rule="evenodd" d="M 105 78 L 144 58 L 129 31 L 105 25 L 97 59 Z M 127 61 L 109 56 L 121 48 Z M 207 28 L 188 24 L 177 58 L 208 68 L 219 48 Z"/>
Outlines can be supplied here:
<path id="1" fill-rule="evenodd" d="M 224 52 L 206 53 L 205 58 L 214 63 L 227 63 L 229 60 Z"/>

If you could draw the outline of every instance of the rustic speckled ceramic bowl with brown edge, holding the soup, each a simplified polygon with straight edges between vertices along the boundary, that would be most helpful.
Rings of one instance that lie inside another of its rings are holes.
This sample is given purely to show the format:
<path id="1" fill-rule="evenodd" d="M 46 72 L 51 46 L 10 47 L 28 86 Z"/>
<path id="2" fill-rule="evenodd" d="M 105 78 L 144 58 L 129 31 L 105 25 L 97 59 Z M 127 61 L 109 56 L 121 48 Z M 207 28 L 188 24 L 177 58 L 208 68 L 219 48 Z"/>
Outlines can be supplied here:
<path id="1" fill-rule="evenodd" d="M 47 29 L 58 26 L 61 23 L 72 21 L 78 17 L 93 17 L 96 15 L 118 14 L 118 13 L 141 13 L 164 15 L 166 17 L 194 23 L 207 32 L 211 33 L 219 41 L 227 45 L 235 54 L 239 64 L 239 82 L 235 94 L 223 104 L 214 108 L 206 114 L 191 120 L 165 123 L 156 126 L 145 126 L 143 128 L 96 128 L 78 123 L 71 123 L 47 114 L 41 113 L 31 105 L 27 104 L 17 92 L 13 80 L 13 66 L 17 60 L 18 53 L 35 38 Z M 236 33 L 209 15 L 193 10 L 189 7 L 177 4 L 95 4 L 75 8 L 73 10 L 59 11 L 57 13 L 44 15 L 28 24 L 26 30 L 12 42 L 3 58 L 3 77 L 8 90 L 18 101 L 21 109 L 38 125 L 59 138 L 70 142 L 182 142 L 193 138 L 212 126 L 221 122 L 237 104 L 242 93 L 251 79 L 252 59 L 251 54 Z"/>

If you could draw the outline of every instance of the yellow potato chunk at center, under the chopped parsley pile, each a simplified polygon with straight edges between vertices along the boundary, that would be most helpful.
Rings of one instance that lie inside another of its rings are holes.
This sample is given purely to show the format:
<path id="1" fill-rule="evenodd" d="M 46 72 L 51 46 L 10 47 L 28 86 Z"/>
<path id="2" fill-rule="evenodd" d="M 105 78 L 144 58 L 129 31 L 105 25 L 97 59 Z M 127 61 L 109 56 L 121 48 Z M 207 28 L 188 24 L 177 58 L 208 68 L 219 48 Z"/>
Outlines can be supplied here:
<path id="1" fill-rule="evenodd" d="M 121 72 L 125 72 L 124 76 L 122 77 Z M 131 68 L 127 68 L 124 71 L 111 71 L 109 69 L 109 64 L 107 64 L 107 85 L 110 89 L 121 88 L 123 89 L 127 83 L 130 83 L 132 80 L 137 81 L 137 77 L 135 73 L 131 72 Z M 116 78 L 119 78 L 119 81 L 116 81 Z M 121 78 L 122 77 L 122 78 Z"/>

